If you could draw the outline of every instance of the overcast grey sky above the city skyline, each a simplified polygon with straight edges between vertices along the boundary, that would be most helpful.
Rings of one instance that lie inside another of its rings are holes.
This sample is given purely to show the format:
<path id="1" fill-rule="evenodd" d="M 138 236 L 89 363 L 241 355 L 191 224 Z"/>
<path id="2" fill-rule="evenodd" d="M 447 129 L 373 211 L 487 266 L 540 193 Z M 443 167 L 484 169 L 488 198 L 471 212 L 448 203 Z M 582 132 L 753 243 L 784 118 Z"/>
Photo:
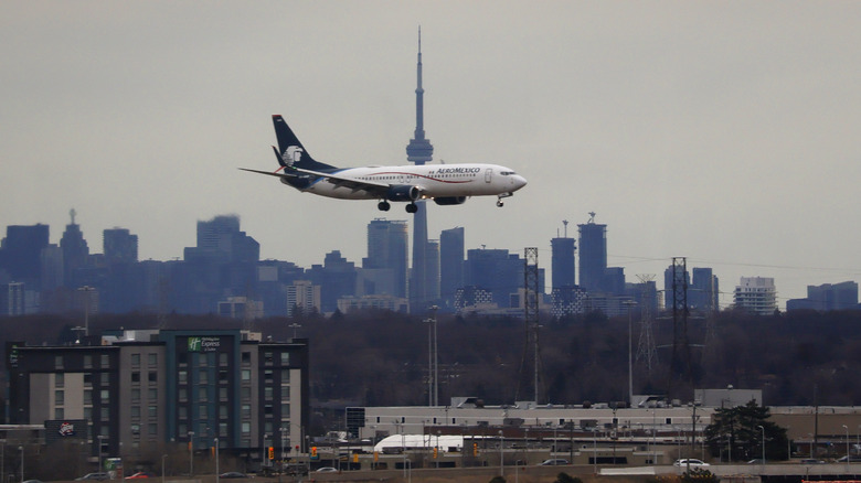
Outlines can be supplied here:
<path id="1" fill-rule="evenodd" d="M 530 182 L 503 208 L 432 206 L 432 237 L 549 268 L 594 211 L 628 281 L 662 285 L 673 256 L 725 292 L 774 277 L 782 305 L 861 281 L 851 1 L 0 2 L 0 225 L 57 243 L 74 207 L 92 253 L 120 226 L 167 260 L 233 213 L 264 258 L 360 265 L 375 202 L 236 168 L 275 168 L 273 114 L 320 161 L 405 163 L 419 24 L 434 158 Z"/>

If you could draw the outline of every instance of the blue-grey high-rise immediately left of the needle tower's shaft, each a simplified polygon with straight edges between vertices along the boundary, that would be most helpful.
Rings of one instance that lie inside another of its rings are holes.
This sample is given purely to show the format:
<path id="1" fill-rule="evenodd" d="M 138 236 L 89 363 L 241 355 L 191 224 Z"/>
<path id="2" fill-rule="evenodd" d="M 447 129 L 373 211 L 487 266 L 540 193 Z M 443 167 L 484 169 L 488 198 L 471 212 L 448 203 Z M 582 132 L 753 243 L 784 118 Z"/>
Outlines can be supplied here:
<path id="1" fill-rule="evenodd" d="M 406 298 L 406 222 L 403 221 L 376 218 L 368 224 L 368 257 L 362 259 L 362 268 L 375 270 L 378 277 L 365 294 L 387 293 Z"/>

